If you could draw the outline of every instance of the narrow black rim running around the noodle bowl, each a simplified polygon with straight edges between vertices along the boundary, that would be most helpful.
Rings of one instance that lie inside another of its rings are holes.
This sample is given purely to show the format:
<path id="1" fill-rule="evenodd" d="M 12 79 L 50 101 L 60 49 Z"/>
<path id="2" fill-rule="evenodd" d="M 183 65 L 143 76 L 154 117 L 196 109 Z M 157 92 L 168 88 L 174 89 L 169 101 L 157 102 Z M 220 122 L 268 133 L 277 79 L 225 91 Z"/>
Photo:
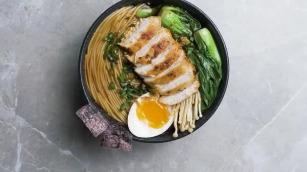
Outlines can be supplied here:
<path id="1" fill-rule="evenodd" d="M 225 45 L 225 41 L 219 31 L 219 29 L 216 27 L 216 25 L 214 24 L 214 22 L 209 18 L 209 16 L 207 16 L 206 13 L 204 13 L 202 10 L 200 10 L 198 7 L 196 7 L 195 5 L 185 1 L 185 0 L 177 0 L 181 3 L 184 3 L 184 4 L 187 4 L 189 6 L 191 6 L 192 8 L 194 8 L 195 10 L 197 10 L 198 12 L 201 13 L 201 15 L 203 15 L 207 20 L 208 22 L 213 26 L 213 29 L 216 31 L 220 41 L 221 41 L 221 45 L 222 47 L 220 47 L 220 49 L 223 49 L 224 52 L 225 52 L 225 62 L 226 64 L 223 64 L 223 65 L 226 65 L 226 71 L 223 70 L 222 72 L 225 72 L 226 73 L 226 78 L 225 76 L 223 77 L 223 79 L 225 79 L 225 84 L 224 85 L 221 85 L 219 87 L 223 87 L 222 88 L 222 92 L 221 92 L 221 97 L 220 99 L 218 100 L 218 102 L 216 103 L 215 107 L 211 110 L 211 112 L 209 114 L 206 115 L 206 117 L 202 117 L 202 118 L 206 118 L 204 120 L 202 120 L 201 123 L 198 123 L 198 125 L 194 128 L 193 132 L 194 133 L 198 128 L 200 128 L 204 123 L 206 123 L 212 116 L 213 114 L 216 112 L 216 110 L 218 109 L 218 107 L 220 106 L 224 96 L 225 96 L 225 93 L 226 93 L 226 90 L 227 90 L 227 85 L 228 85 L 228 79 L 229 79 L 229 57 L 228 57 L 228 52 L 227 52 L 227 48 L 226 48 L 226 45 Z M 91 27 L 89 28 L 89 30 L 87 31 L 86 35 L 85 35 L 85 38 L 82 42 L 82 46 L 81 46 L 81 49 L 80 49 L 80 54 L 79 54 L 79 60 L 78 60 L 78 71 L 79 71 L 79 78 L 80 78 L 80 81 L 81 81 L 81 87 L 82 87 L 82 91 L 83 91 L 83 95 L 85 96 L 87 102 L 89 104 L 93 104 L 97 109 L 100 109 L 102 110 L 103 112 L 105 112 L 104 109 L 100 108 L 96 103 L 95 101 L 93 100 L 93 98 L 91 97 L 89 91 L 88 91 L 88 88 L 87 88 L 87 85 L 86 85 L 86 81 L 85 81 L 85 73 L 83 71 L 83 64 L 84 64 L 84 59 L 85 59 L 85 55 L 87 53 L 87 48 L 88 48 L 88 44 L 92 38 L 92 35 L 94 34 L 96 28 L 99 26 L 99 24 L 107 17 L 109 16 L 110 12 L 114 11 L 114 10 L 117 10 L 118 8 L 121 8 L 124 6 L 125 3 L 127 2 L 130 2 L 129 0 L 122 0 L 114 5 L 112 5 L 110 8 L 108 8 L 106 11 L 104 11 L 101 15 L 99 15 L 99 17 L 94 21 L 94 23 L 91 25 Z M 137 1 L 137 2 L 143 2 L 143 3 L 146 3 L 147 1 Z M 132 4 L 138 4 L 138 3 L 135 3 L 133 1 L 131 1 L 131 5 Z M 222 82 L 221 82 L 222 83 Z M 189 133 L 187 131 L 181 133 L 179 132 L 179 135 L 178 137 L 174 138 L 174 137 L 170 137 L 170 138 L 166 138 L 166 139 L 150 139 L 150 138 L 140 138 L 140 137 L 136 137 L 133 135 L 133 140 L 135 141 L 140 141 L 140 142 L 147 142 L 147 143 L 162 143 L 162 142 L 169 142 L 169 141 L 174 141 L 174 140 L 177 140 L 177 139 L 180 139 L 180 138 L 183 138 L 187 135 L 190 135 L 192 133 Z M 155 137 L 151 137 L 151 138 L 155 138 Z"/>

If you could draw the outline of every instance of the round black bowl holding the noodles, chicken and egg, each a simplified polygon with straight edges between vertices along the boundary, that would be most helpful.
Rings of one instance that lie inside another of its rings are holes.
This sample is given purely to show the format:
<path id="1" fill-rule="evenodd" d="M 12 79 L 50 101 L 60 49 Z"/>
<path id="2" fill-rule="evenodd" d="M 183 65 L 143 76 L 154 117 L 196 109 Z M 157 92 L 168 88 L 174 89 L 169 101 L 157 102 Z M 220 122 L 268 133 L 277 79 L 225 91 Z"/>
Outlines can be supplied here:
<path id="1" fill-rule="evenodd" d="M 196 128 L 194 129 L 197 130 L 199 127 L 201 127 L 204 123 L 206 123 L 209 118 L 214 114 L 214 112 L 217 110 L 217 108 L 219 107 L 226 88 L 227 88 L 227 83 L 228 83 L 228 76 L 229 76 L 229 60 L 228 60 L 228 54 L 227 54 L 227 49 L 224 43 L 224 40 L 218 30 L 218 28 L 214 25 L 214 23 L 211 21 L 211 19 L 204 14 L 200 9 L 198 9 L 197 7 L 195 7 L 194 5 L 192 5 L 189 2 L 186 2 L 184 0 L 177 0 L 177 1 L 172 1 L 172 0 L 123 0 L 120 1 L 119 3 L 113 5 L 112 7 L 110 7 L 108 10 L 106 10 L 103 14 L 101 14 L 97 20 L 93 23 L 93 25 L 90 27 L 89 31 L 87 32 L 82 47 L 81 47 L 81 51 L 80 51 L 80 57 L 79 57 L 79 75 L 80 75 L 80 79 L 81 79 L 81 84 L 82 84 L 82 88 L 83 88 L 83 92 L 84 95 L 87 99 L 87 101 L 90 104 L 93 104 L 94 106 L 96 106 L 97 109 L 100 110 L 100 112 L 102 113 L 106 113 L 104 110 L 101 110 L 100 107 L 94 102 L 94 100 L 92 99 L 87 85 L 85 83 L 85 75 L 84 75 L 84 71 L 82 70 L 82 66 L 84 64 L 84 58 L 85 58 L 85 54 L 87 52 L 87 47 L 88 44 L 92 38 L 93 33 L 95 32 L 96 28 L 99 26 L 99 24 L 107 17 L 109 16 L 111 13 L 113 13 L 114 11 L 124 7 L 124 6 L 130 6 L 130 5 L 137 5 L 140 3 L 151 3 L 151 4 L 167 4 L 167 5 L 174 5 L 176 7 L 179 7 L 181 9 L 184 9 L 185 11 L 187 11 L 191 16 L 193 16 L 196 20 L 198 20 L 201 24 L 201 28 L 206 27 L 210 30 L 216 44 L 217 47 L 219 49 L 221 58 L 222 58 L 222 81 L 218 90 L 218 94 L 217 97 L 214 101 L 214 103 L 212 104 L 211 108 L 207 109 L 206 111 L 203 111 L 203 117 L 200 118 L 199 120 L 196 121 Z M 177 138 L 173 138 L 172 134 L 173 134 L 174 128 L 171 127 L 169 130 L 167 130 L 166 132 L 164 132 L 163 134 L 156 136 L 156 137 L 151 137 L 151 138 L 140 138 L 140 137 L 136 137 L 133 136 L 133 140 L 136 141 L 141 141 L 141 142 L 150 142 L 150 143 L 161 143 L 161 142 L 168 142 L 168 141 L 172 141 L 172 140 L 177 140 L 180 139 L 188 134 L 190 134 L 189 132 L 179 132 L 179 136 Z M 200 134 L 200 133 L 198 133 Z"/>

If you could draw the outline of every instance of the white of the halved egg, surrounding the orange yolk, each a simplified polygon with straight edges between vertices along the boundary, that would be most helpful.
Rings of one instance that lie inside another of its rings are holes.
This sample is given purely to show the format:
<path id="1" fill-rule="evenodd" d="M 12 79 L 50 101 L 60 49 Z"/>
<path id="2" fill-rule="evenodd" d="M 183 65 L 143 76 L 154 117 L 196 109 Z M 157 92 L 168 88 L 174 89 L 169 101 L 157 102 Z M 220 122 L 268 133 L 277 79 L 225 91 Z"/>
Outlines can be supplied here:
<path id="1" fill-rule="evenodd" d="M 140 103 L 142 97 L 149 97 L 149 93 L 146 93 L 139 97 L 137 101 Z M 171 109 L 169 106 L 167 106 L 169 111 L 171 112 Z M 136 103 L 133 103 L 133 105 L 130 108 L 129 115 L 128 115 L 128 128 L 131 131 L 131 133 L 137 137 L 142 138 L 148 138 L 148 137 L 154 137 L 158 136 L 162 133 L 164 133 L 170 126 L 173 124 L 174 117 L 173 115 L 170 116 L 169 121 L 161 128 L 151 128 L 147 124 L 144 124 L 136 114 Z"/>

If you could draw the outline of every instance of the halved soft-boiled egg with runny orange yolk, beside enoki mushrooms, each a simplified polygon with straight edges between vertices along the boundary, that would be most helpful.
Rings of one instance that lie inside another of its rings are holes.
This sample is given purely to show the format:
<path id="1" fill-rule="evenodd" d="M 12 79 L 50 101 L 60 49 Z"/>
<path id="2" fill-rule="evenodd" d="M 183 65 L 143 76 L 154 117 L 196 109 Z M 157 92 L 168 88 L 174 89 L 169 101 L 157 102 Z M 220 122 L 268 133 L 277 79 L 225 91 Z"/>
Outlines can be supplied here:
<path id="1" fill-rule="evenodd" d="M 165 132 L 173 123 L 171 108 L 146 93 L 131 106 L 128 127 L 137 137 L 154 137 Z"/>

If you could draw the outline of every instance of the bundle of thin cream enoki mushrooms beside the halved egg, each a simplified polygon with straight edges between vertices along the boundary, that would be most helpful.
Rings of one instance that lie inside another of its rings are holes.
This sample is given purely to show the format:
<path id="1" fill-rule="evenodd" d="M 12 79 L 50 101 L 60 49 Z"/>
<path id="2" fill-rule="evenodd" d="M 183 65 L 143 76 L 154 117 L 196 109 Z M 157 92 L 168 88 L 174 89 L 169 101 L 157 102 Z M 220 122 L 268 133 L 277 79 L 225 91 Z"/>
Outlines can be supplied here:
<path id="1" fill-rule="evenodd" d="M 172 115 L 174 115 L 175 132 L 173 137 L 178 137 L 178 130 L 184 132 L 193 132 L 195 121 L 202 117 L 200 110 L 200 93 L 199 91 L 187 98 L 185 101 L 172 107 Z"/>

